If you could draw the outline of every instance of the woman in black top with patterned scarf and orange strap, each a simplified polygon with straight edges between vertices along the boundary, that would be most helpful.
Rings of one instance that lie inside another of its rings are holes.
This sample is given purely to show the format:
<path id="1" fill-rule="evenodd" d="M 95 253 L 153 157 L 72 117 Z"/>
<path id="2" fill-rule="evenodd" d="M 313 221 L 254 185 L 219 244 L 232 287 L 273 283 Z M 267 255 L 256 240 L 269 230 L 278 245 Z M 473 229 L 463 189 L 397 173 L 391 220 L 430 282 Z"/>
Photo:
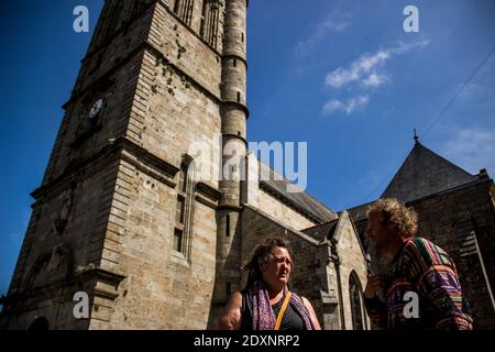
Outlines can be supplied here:
<path id="1" fill-rule="evenodd" d="M 244 266 L 248 283 L 232 295 L 219 328 L 224 330 L 320 330 L 311 304 L 288 289 L 293 270 L 288 243 L 278 238 L 258 245 Z"/>

